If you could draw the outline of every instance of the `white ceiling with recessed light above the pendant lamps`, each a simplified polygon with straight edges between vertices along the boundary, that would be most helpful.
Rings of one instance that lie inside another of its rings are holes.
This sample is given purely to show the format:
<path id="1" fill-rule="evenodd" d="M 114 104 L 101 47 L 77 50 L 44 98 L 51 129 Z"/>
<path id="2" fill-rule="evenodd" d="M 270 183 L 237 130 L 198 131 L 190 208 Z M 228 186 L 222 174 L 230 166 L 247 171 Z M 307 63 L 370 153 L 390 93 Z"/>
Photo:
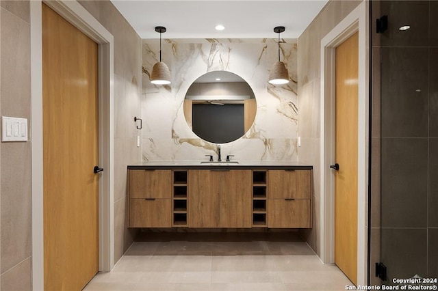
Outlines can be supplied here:
<path id="1" fill-rule="evenodd" d="M 284 26 L 281 38 L 298 38 L 327 0 L 292 1 L 149 1 L 112 0 L 142 39 L 163 38 L 277 38 L 273 29 Z M 216 31 L 216 25 L 225 29 Z"/>

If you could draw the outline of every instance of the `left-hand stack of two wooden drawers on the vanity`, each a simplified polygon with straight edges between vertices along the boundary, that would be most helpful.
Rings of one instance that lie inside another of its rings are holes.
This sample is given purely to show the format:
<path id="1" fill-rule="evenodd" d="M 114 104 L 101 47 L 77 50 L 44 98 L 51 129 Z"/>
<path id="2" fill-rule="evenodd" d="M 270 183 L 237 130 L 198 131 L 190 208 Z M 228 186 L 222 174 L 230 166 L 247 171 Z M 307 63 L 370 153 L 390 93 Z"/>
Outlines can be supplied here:
<path id="1" fill-rule="evenodd" d="M 129 170 L 129 227 L 172 226 L 172 170 Z"/>

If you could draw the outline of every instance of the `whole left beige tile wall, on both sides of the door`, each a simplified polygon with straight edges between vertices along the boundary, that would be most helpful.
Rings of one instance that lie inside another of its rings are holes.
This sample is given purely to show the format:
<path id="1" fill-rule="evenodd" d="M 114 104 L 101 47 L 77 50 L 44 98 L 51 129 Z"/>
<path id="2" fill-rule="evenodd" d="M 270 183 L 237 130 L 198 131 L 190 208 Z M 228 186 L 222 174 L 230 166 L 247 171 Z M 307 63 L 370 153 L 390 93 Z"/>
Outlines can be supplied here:
<path id="1" fill-rule="evenodd" d="M 141 116 L 141 40 L 110 1 L 81 1 L 114 36 L 114 209 L 117 261 L 135 234 L 127 229 L 127 165 L 141 161 L 133 117 Z M 29 1 L 0 2 L 1 115 L 25 117 L 31 132 Z M 0 145 L 0 289 L 31 289 L 31 137 Z"/>

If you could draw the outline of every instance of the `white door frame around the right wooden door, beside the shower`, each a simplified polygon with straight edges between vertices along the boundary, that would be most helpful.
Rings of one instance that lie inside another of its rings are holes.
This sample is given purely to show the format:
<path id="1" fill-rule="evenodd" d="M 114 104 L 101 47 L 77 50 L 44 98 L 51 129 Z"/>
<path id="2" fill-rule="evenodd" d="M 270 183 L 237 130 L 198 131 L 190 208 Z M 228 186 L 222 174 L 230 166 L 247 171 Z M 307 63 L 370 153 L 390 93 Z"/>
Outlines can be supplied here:
<path id="1" fill-rule="evenodd" d="M 359 31 L 358 169 L 357 169 L 357 283 L 367 284 L 368 270 L 368 18 L 362 1 L 320 44 L 320 249 L 324 264 L 335 262 L 335 48 Z"/>

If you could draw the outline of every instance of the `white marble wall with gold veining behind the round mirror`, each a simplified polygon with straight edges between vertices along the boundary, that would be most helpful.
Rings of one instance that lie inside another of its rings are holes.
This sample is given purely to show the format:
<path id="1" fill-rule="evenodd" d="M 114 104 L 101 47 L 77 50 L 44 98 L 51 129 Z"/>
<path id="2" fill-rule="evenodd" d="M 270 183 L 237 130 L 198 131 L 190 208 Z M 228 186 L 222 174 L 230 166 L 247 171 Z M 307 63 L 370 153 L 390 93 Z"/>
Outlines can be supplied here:
<path id="1" fill-rule="evenodd" d="M 244 137 L 222 144 L 222 156 L 237 161 L 297 161 L 298 98 L 296 40 L 283 40 L 281 60 L 287 65 L 286 85 L 270 85 L 268 74 L 277 60 L 275 40 L 163 40 L 162 61 L 172 84 L 149 81 L 159 60 L 159 40 L 142 43 L 142 152 L 143 161 L 201 161 L 217 158 L 216 144 L 197 137 L 185 122 L 183 100 L 198 77 L 227 70 L 242 77 L 255 92 L 257 115 Z"/>

